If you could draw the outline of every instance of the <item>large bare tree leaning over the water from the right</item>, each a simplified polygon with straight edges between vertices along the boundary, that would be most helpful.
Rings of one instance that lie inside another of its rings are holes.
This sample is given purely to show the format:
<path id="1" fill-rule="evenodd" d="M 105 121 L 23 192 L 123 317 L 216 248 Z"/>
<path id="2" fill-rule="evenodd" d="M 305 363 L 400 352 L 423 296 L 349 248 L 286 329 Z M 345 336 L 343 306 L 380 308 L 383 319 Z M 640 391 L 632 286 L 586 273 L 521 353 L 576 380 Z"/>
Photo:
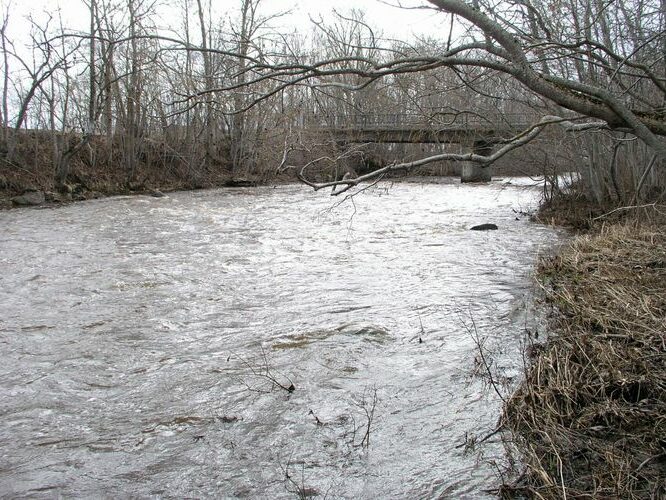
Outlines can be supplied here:
<path id="1" fill-rule="evenodd" d="M 516 146 L 528 143 L 551 124 L 559 124 L 570 131 L 605 129 L 632 134 L 657 155 L 659 165 L 666 160 L 666 145 L 661 138 L 666 134 L 666 121 L 660 111 L 666 95 L 663 62 L 660 62 L 663 16 L 655 14 L 659 12 L 657 6 L 637 5 L 639 13 L 645 14 L 648 21 L 638 20 L 624 6 L 614 7 L 618 18 L 615 25 L 611 26 L 606 19 L 608 22 L 592 30 L 591 20 L 611 6 L 600 10 L 589 2 L 580 4 L 582 7 L 575 4 L 568 21 L 553 16 L 548 3 L 469 4 L 461 0 L 431 0 L 429 3 L 463 22 L 468 27 L 467 37 L 458 44 L 447 42 L 444 50 L 434 54 L 383 50 L 384 57 L 375 57 L 351 50 L 307 64 L 250 58 L 239 51 L 243 74 L 247 76 L 227 89 L 237 91 L 266 81 L 275 83 L 269 91 L 255 96 L 247 108 L 270 99 L 290 85 L 304 82 L 318 90 L 362 91 L 380 79 L 451 68 L 468 88 L 476 90 L 473 71 L 476 68 L 513 78 L 533 95 L 550 103 L 550 109 L 497 153 L 440 154 L 433 155 L 429 161 L 451 159 L 489 164 Z M 621 32 L 623 21 L 632 26 L 629 36 Z M 340 37 L 331 34 L 331 38 Z M 612 40 L 616 40 L 614 46 L 608 46 Z M 344 43 L 349 48 L 359 45 L 349 40 Z M 390 57 L 385 57 L 387 54 Z M 352 77 L 356 80 L 350 80 Z M 422 164 L 423 161 L 394 165 L 361 180 Z M 351 187 L 360 180 L 339 182 Z M 310 184 L 317 188 L 329 186 Z"/>

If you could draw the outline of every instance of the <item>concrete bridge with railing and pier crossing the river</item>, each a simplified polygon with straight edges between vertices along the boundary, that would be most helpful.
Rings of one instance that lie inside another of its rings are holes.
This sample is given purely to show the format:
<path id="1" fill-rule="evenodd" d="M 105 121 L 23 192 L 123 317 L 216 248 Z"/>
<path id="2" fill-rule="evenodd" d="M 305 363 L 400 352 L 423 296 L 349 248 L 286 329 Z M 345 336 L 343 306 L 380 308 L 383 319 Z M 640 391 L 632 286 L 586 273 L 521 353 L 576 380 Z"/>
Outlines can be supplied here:
<path id="1" fill-rule="evenodd" d="M 524 114 L 469 113 L 369 113 L 333 115 L 317 120 L 308 128 L 326 133 L 338 144 L 410 143 L 462 144 L 470 151 L 489 155 L 495 144 L 505 141 L 529 126 Z M 490 181 L 489 167 L 463 162 L 462 182 Z"/>

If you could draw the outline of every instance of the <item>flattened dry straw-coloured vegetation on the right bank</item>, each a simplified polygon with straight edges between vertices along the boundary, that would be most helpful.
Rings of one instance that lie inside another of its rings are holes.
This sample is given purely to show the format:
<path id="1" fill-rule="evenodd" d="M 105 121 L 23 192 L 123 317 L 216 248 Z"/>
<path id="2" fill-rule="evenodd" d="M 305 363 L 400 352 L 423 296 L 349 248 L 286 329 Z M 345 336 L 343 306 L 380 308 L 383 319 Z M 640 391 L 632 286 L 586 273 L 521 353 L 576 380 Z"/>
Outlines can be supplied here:
<path id="1" fill-rule="evenodd" d="M 540 263 L 551 334 L 505 408 L 505 497 L 666 497 L 666 206 L 641 212 Z"/>

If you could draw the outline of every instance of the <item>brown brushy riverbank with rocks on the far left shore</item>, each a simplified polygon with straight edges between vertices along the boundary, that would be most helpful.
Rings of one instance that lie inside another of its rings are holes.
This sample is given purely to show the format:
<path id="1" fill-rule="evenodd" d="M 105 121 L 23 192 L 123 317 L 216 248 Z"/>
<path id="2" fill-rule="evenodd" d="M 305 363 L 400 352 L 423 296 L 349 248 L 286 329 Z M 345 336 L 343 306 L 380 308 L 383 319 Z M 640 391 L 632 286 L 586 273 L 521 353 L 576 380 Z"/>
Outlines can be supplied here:
<path id="1" fill-rule="evenodd" d="M 56 138 L 69 144 L 78 140 L 74 135 Z M 66 181 L 58 185 L 53 140 L 45 131 L 22 131 L 12 153 L 0 155 L 0 209 L 295 179 L 274 168 L 235 172 L 224 148 L 219 156 L 206 157 L 192 144 L 165 139 L 145 139 L 129 161 L 122 141 L 95 136 L 69 159 Z"/>

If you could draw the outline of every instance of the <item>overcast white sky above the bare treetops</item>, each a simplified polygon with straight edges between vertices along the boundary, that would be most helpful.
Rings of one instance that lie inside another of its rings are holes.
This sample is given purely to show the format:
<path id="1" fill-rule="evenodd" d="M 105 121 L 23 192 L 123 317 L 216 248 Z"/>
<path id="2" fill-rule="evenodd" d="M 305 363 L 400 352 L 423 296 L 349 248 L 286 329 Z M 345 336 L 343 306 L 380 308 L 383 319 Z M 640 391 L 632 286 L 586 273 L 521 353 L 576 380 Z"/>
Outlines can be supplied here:
<path id="1" fill-rule="evenodd" d="M 388 38 L 412 39 L 414 35 L 443 36 L 447 17 L 435 13 L 430 9 L 399 9 L 390 4 L 397 4 L 399 0 L 263 0 L 262 12 L 292 10 L 289 18 L 280 21 L 280 24 L 288 26 L 300 26 L 306 28 L 309 24 L 309 16 L 318 18 L 320 15 L 330 16 L 332 9 L 340 12 L 357 8 L 365 11 L 366 19 L 373 28 L 383 31 Z M 418 7 L 428 5 L 425 0 L 400 0 L 404 6 Z M 213 5 L 218 12 L 236 10 L 239 0 L 213 0 Z M 159 3 L 172 3 L 171 0 L 161 0 Z M 63 17 L 67 24 L 80 29 L 87 25 L 87 14 L 81 0 L 0 0 L 0 5 L 11 5 L 10 33 L 21 30 L 25 23 L 21 19 L 32 13 L 38 15 L 44 10 L 53 11 L 62 8 Z"/>

